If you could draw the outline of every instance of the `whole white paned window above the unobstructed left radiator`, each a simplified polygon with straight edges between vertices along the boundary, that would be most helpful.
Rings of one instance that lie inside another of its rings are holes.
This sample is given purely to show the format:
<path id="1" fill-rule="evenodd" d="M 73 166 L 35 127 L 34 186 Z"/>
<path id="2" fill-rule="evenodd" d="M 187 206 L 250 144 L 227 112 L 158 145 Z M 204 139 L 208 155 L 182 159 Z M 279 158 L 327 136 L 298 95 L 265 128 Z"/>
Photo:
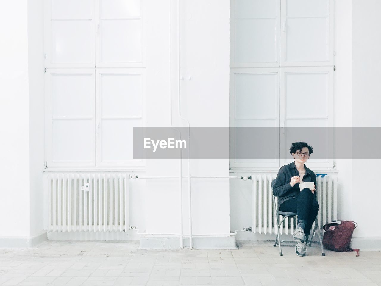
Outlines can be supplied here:
<path id="1" fill-rule="evenodd" d="M 48 167 L 142 167 L 133 127 L 144 126 L 142 0 L 45 1 Z"/>

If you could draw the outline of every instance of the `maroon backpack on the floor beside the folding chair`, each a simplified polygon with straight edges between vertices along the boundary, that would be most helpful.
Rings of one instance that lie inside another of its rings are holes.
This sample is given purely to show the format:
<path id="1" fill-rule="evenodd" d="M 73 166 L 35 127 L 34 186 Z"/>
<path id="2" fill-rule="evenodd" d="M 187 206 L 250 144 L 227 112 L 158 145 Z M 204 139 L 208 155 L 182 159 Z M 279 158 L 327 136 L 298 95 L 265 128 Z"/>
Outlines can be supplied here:
<path id="1" fill-rule="evenodd" d="M 336 222 L 337 220 L 333 220 Z M 339 222 L 339 221 L 337 221 Z M 357 252 L 359 256 L 359 248 L 352 249 L 349 247 L 351 244 L 353 230 L 357 227 L 357 223 L 352 220 L 340 220 L 340 224 L 325 224 L 323 228 L 325 233 L 323 235 L 323 246 L 337 252 Z"/>

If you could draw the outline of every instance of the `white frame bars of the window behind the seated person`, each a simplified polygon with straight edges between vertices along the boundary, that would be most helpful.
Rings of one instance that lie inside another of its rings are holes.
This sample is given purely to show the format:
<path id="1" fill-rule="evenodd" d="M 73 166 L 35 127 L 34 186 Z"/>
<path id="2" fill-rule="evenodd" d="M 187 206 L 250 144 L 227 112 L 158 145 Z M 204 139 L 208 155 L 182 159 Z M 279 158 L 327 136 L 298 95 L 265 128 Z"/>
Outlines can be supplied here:
<path id="1" fill-rule="evenodd" d="M 329 73 L 329 93 L 328 93 L 328 127 L 333 127 L 333 102 L 334 102 L 334 33 L 335 33 L 335 27 L 334 27 L 334 3 L 333 0 L 329 0 L 329 13 L 328 13 L 328 25 L 329 25 L 329 45 L 328 45 L 328 56 L 329 61 L 324 62 L 285 62 L 285 39 L 286 35 L 282 29 L 279 29 L 277 35 L 279 34 L 279 62 L 272 62 L 272 63 L 235 63 L 235 51 L 234 51 L 234 40 L 235 40 L 235 3 L 236 1 L 231 1 L 231 66 L 230 66 L 230 110 L 231 110 L 231 117 L 230 117 L 230 126 L 235 127 L 235 94 L 234 94 L 234 74 L 238 72 L 245 72 L 250 70 L 255 70 L 259 68 L 263 69 L 272 69 L 272 68 L 278 68 L 279 69 L 279 127 L 284 126 L 285 124 L 285 91 L 284 91 L 284 75 L 287 70 L 303 70 L 306 68 L 309 68 L 312 70 L 312 72 L 319 72 L 321 70 L 327 70 Z M 277 3 L 279 5 L 279 28 L 285 25 L 285 13 L 286 13 L 286 0 L 277 0 Z M 285 27 L 286 28 L 286 27 Z M 286 29 L 287 32 L 287 29 Z M 250 73 L 250 72 L 248 72 Z M 232 136 L 232 135 L 231 135 Z M 281 138 L 281 136 L 280 136 Z M 234 136 L 231 139 L 234 144 Z M 333 139 L 334 140 L 334 139 Z M 279 153 L 281 152 L 279 145 Z M 231 146 L 231 148 L 234 147 Z M 291 155 L 290 155 L 291 158 Z M 291 160 L 292 161 L 292 160 Z M 280 159 L 279 163 L 275 166 L 269 166 L 266 163 L 236 163 L 234 162 L 234 159 L 230 160 L 230 169 L 236 170 L 236 171 L 274 171 L 278 170 L 281 166 L 290 163 L 290 160 L 288 159 Z M 335 162 L 333 159 L 329 159 L 325 163 L 310 163 L 309 168 L 314 169 L 320 169 L 320 170 L 332 170 L 335 169 Z"/>

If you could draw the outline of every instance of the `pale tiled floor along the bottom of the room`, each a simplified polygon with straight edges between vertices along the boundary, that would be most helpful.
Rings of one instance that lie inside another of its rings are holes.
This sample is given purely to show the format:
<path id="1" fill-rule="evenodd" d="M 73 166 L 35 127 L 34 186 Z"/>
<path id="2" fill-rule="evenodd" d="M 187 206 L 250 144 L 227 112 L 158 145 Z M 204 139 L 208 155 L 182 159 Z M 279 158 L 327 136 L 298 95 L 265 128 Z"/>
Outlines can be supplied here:
<path id="1" fill-rule="evenodd" d="M 271 242 L 237 250 L 138 250 L 139 243 L 49 241 L 0 250 L 0 285 L 381 285 L 381 252 L 298 257 Z"/>

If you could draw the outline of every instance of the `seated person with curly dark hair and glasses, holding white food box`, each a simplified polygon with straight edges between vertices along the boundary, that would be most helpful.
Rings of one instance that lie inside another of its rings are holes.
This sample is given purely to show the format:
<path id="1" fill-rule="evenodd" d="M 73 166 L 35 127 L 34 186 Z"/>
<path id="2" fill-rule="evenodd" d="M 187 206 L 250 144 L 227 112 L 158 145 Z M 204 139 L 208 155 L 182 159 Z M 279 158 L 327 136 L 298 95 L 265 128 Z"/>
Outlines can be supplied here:
<path id="1" fill-rule="evenodd" d="M 295 252 L 298 256 L 306 255 L 308 236 L 319 211 L 315 189 L 316 175 L 304 165 L 312 151 L 312 147 L 306 142 L 291 144 L 290 154 L 295 161 L 279 169 L 272 190 L 273 195 L 278 197 L 279 211 L 298 214 L 298 224 L 293 233 L 293 240 L 297 242 Z M 314 189 L 300 190 L 301 182 L 314 182 Z"/>

